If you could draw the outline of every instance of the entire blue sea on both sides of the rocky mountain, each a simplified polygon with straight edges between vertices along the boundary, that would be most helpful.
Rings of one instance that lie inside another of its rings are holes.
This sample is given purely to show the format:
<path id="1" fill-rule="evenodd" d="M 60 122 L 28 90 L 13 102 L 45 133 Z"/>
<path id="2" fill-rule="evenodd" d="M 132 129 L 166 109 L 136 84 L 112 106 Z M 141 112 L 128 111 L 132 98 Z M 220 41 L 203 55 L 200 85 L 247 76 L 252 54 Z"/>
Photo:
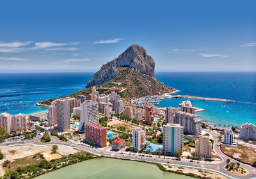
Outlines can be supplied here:
<path id="1" fill-rule="evenodd" d="M 0 113 L 33 114 L 47 111 L 35 105 L 40 100 L 66 97 L 84 89 L 93 73 L 0 74 Z M 191 100 L 205 109 L 197 114 L 203 121 L 221 127 L 256 124 L 256 72 L 156 72 L 156 79 L 178 89 L 179 95 L 228 98 L 234 103 L 186 98 L 164 99 L 157 106 L 177 107 Z"/>

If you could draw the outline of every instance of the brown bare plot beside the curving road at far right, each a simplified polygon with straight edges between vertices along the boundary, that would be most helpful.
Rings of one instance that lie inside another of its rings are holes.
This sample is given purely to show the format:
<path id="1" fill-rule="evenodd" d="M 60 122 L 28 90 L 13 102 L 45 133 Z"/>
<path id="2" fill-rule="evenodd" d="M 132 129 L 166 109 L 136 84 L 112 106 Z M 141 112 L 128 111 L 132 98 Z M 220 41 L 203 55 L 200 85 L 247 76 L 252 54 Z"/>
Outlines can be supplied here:
<path id="1" fill-rule="evenodd" d="M 226 155 L 246 164 L 252 164 L 256 161 L 256 152 L 253 148 L 238 144 L 237 147 L 221 146 L 220 149 Z"/>

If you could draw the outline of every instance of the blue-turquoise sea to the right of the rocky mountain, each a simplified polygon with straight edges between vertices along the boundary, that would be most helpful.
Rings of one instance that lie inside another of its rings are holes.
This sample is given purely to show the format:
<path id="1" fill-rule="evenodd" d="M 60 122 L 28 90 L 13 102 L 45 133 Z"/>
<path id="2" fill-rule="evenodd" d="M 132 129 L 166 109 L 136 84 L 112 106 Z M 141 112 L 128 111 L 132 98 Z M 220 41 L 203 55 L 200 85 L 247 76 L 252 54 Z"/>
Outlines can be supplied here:
<path id="1" fill-rule="evenodd" d="M 156 77 L 164 84 L 179 89 L 177 94 L 236 101 L 227 103 L 173 98 L 164 99 L 159 107 L 177 107 L 180 101 L 191 100 L 195 107 L 207 110 L 197 113 L 200 118 L 214 125 L 239 126 L 245 122 L 256 124 L 255 72 L 159 72 Z M 221 107 L 224 105 L 226 107 Z"/>

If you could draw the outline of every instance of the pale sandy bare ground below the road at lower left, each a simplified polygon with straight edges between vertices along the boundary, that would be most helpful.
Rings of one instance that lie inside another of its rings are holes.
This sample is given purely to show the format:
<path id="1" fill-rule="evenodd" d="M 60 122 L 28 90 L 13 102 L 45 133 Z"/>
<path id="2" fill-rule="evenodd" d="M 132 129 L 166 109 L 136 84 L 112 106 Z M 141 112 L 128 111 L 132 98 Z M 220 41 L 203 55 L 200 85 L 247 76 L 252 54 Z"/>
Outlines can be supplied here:
<path id="1" fill-rule="evenodd" d="M 61 155 L 68 155 L 70 153 L 76 153 L 77 150 L 72 148 L 67 148 L 64 146 L 59 146 L 56 154 L 51 154 L 52 146 L 33 146 L 33 145 L 23 145 L 23 146 L 7 146 L 1 147 L 1 153 L 4 155 L 4 159 L 0 160 L 0 176 L 4 175 L 3 162 L 5 160 L 13 161 L 15 159 L 21 159 L 34 155 L 36 153 L 42 153 L 46 160 L 58 159 Z"/>

